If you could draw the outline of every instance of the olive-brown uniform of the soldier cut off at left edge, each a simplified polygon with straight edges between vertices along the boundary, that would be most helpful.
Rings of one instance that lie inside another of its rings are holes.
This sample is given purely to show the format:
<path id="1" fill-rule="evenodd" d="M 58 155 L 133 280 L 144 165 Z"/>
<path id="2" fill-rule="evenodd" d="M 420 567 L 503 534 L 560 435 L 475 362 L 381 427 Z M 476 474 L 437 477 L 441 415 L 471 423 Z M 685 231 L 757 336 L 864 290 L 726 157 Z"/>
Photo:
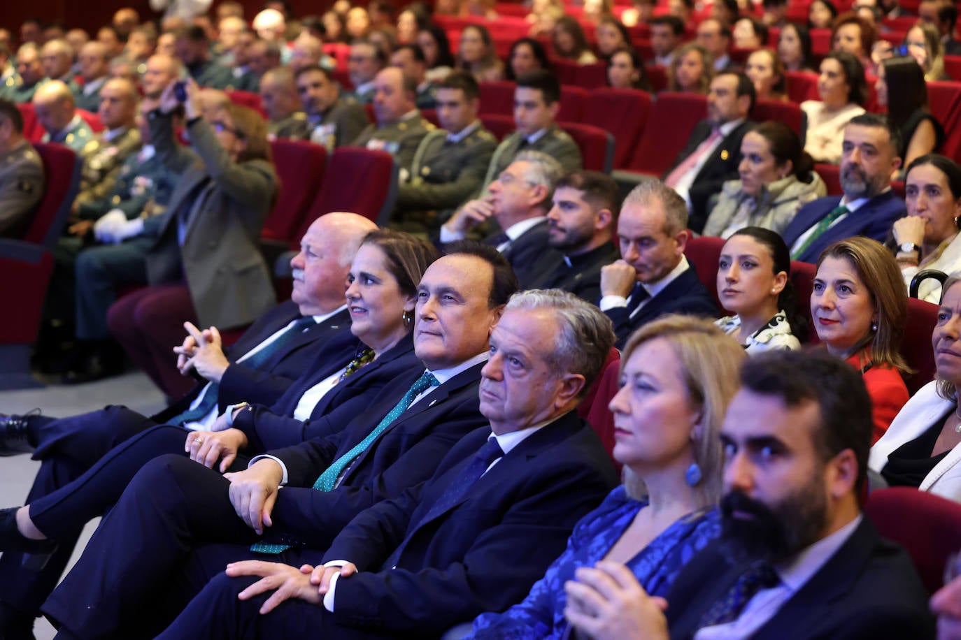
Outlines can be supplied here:
<path id="1" fill-rule="evenodd" d="M 43 196 L 43 163 L 26 140 L 0 154 L 0 236 L 17 236 Z"/>

